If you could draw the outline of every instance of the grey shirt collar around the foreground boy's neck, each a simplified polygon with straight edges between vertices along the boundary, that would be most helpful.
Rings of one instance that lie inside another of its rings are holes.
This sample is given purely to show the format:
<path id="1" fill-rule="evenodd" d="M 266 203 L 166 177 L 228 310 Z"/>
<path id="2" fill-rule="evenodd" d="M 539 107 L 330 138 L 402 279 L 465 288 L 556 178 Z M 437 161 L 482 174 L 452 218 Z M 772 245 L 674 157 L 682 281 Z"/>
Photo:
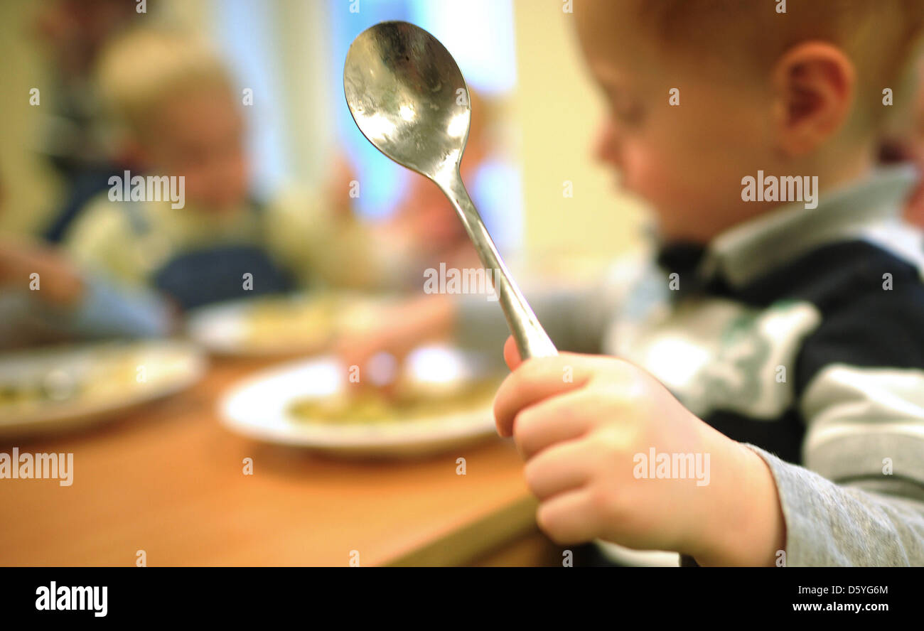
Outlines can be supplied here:
<path id="1" fill-rule="evenodd" d="M 813 209 L 803 202 L 785 204 L 729 228 L 706 246 L 665 243 L 658 262 L 668 271 L 695 271 L 698 283 L 719 275 L 732 286 L 745 285 L 810 249 L 900 215 L 917 179 L 911 165 L 877 169 L 856 184 L 822 192 Z"/>

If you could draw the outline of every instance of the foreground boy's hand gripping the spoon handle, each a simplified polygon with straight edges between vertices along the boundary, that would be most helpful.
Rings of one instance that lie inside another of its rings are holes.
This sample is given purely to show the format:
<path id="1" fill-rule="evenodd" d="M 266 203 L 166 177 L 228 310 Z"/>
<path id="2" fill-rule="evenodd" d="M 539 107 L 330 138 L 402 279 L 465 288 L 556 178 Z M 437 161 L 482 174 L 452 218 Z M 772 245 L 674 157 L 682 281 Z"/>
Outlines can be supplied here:
<path id="1" fill-rule="evenodd" d="M 514 372 L 494 401 L 497 431 L 528 461 L 537 520 L 553 540 L 673 550 L 700 564 L 772 563 L 782 514 L 759 455 L 625 360 L 563 353 L 520 364 L 512 338 L 505 358 Z M 687 469 L 680 479 L 669 468 L 675 477 L 651 478 L 652 449 L 671 462 L 699 457 L 704 475 Z"/>

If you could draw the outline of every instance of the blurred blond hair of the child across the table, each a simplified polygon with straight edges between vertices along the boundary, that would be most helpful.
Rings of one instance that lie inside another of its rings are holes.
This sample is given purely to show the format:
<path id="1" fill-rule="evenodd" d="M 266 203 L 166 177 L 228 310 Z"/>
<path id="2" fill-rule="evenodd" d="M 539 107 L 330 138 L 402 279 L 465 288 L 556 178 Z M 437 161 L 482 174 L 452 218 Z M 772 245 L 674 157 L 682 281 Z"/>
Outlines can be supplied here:
<path id="1" fill-rule="evenodd" d="M 100 56 L 97 82 L 103 106 L 116 125 L 143 138 L 153 115 L 177 93 L 202 85 L 231 90 L 221 58 L 198 39 L 166 30 L 132 30 Z"/>

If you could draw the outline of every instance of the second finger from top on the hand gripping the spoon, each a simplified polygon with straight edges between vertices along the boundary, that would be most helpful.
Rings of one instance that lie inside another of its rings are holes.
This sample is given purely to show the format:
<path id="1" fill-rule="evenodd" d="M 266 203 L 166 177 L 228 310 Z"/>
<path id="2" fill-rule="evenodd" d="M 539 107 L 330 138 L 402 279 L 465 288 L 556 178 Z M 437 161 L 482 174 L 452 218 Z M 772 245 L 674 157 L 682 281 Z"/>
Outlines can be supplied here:
<path id="1" fill-rule="evenodd" d="M 513 424 L 520 455 L 529 460 L 554 443 L 583 436 L 593 426 L 595 404 L 584 389 L 558 394 L 521 409 Z"/>

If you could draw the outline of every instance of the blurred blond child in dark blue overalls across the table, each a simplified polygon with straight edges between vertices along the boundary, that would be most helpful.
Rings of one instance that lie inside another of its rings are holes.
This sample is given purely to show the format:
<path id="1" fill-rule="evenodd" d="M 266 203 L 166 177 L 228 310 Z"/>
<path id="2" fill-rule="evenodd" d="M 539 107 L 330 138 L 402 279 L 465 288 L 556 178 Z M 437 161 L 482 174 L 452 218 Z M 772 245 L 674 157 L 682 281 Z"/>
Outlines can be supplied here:
<path id="1" fill-rule="evenodd" d="M 131 32 L 103 52 L 99 77 L 145 170 L 116 178 L 74 225 L 67 249 L 80 263 L 155 288 L 182 309 L 375 284 L 380 266 L 351 216 L 328 212 L 323 200 L 264 204 L 250 195 L 241 102 L 204 45 Z M 163 188 L 142 183 L 136 195 L 127 182 L 142 176 Z"/>

